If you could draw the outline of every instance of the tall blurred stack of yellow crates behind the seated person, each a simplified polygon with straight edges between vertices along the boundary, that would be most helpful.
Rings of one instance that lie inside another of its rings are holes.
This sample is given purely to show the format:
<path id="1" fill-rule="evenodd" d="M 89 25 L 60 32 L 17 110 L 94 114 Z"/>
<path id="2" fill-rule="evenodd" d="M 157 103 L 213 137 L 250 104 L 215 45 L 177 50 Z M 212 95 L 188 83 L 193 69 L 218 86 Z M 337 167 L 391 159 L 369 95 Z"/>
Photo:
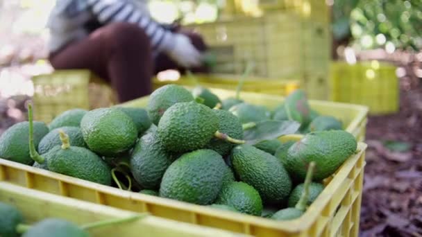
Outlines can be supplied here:
<path id="1" fill-rule="evenodd" d="M 328 6 L 323 1 L 282 1 L 280 6 L 262 17 L 236 15 L 187 27 L 201 33 L 216 55 L 213 73 L 239 74 L 253 62 L 253 76 L 301 80 L 310 98 L 328 99 Z"/>

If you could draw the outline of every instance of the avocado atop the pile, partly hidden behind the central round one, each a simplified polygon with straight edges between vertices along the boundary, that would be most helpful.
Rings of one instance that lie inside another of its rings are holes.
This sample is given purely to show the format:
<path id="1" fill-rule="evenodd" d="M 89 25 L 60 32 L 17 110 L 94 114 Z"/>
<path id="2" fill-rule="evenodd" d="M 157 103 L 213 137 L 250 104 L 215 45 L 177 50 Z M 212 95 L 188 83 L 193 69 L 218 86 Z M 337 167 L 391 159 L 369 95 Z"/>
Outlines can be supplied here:
<path id="1" fill-rule="evenodd" d="M 149 96 L 146 110 L 153 124 L 158 125 L 161 116 L 176 103 L 193 101 L 194 96 L 187 89 L 179 85 L 164 85 L 153 91 Z"/>

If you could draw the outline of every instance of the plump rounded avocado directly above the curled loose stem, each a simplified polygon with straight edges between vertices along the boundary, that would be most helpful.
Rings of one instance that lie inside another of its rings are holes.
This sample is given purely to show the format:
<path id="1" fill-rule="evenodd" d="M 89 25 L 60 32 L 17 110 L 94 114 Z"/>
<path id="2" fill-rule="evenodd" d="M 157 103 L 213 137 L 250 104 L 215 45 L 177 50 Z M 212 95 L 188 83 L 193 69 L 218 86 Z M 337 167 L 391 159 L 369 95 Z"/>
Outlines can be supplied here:
<path id="1" fill-rule="evenodd" d="M 81 131 L 90 150 L 105 157 L 129 150 L 137 139 L 133 120 L 116 108 L 87 112 L 81 121 Z"/>

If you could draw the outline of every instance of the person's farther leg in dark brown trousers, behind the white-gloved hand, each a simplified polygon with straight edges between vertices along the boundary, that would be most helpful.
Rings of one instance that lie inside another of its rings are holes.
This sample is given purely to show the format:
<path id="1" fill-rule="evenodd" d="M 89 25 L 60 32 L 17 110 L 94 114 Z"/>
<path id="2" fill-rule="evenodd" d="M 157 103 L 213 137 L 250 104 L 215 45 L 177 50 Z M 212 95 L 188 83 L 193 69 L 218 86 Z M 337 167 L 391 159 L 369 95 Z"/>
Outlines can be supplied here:
<path id="1" fill-rule="evenodd" d="M 198 49 L 201 52 L 204 52 L 207 49 L 207 46 L 205 44 L 205 42 L 203 41 L 201 35 L 198 35 L 196 33 L 193 33 L 192 31 L 188 31 L 188 30 L 177 30 L 178 33 L 182 33 L 184 35 L 187 35 L 187 37 L 189 37 L 189 39 L 191 40 L 192 44 L 194 44 L 195 48 Z M 177 69 L 178 71 L 180 71 L 181 73 L 185 73 L 185 69 L 180 68 L 178 66 L 178 64 L 176 64 L 176 62 L 174 62 L 173 60 L 171 60 L 171 58 L 169 58 L 169 56 L 167 56 L 165 53 L 160 53 L 157 58 L 155 58 L 155 69 L 154 72 L 158 73 L 160 71 L 164 71 L 164 70 L 168 70 L 168 69 Z M 190 71 L 194 72 L 194 73 L 207 73 L 208 72 L 208 68 L 205 66 L 201 66 L 201 67 L 196 67 L 196 68 L 192 68 L 189 69 Z"/>

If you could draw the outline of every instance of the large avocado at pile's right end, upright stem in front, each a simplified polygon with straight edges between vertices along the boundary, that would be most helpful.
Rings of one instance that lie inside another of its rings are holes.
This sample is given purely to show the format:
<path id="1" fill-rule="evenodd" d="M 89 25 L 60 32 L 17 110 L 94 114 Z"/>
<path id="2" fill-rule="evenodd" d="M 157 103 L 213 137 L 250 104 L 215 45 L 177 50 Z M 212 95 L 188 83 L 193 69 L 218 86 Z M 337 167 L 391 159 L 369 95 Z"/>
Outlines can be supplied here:
<path id="1" fill-rule="evenodd" d="M 289 148 L 285 167 L 292 178 L 303 182 L 307 164 L 315 161 L 313 179 L 319 182 L 335 173 L 356 148 L 355 137 L 343 130 L 311 132 Z"/>

